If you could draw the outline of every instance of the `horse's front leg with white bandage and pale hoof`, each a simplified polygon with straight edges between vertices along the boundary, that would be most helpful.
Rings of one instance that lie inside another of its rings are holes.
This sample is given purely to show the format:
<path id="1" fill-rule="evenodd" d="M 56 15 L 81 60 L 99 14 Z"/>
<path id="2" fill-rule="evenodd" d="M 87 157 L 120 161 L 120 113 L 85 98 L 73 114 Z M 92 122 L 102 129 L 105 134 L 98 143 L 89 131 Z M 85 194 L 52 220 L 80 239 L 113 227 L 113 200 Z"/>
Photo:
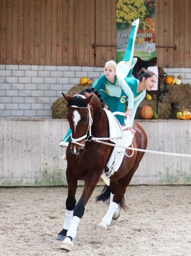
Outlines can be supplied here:
<path id="1" fill-rule="evenodd" d="M 85 179 L 83 193 L 80 197 L 80 200 L 74 207 L 74 212 L 73 212 L 74 216 L 72 218 L 71 225 L 67 231 L 67 236 L 64 239 L 64 241 L 62 241 L 60 249 L 64 249 L 64 250 L 68 250 L 68 251 L 71 251 L 73 249 L 73 247 L 74 247 L 73 240 L 76 237 L 77 228 L 80 223 L 80 220 L 84 215 L 85 205 L 88 202 L 90 196 L 92 195 L 97 182 L 98 182 L 97 178 L 95 181 L 93 181 L 91 179 Z"/>

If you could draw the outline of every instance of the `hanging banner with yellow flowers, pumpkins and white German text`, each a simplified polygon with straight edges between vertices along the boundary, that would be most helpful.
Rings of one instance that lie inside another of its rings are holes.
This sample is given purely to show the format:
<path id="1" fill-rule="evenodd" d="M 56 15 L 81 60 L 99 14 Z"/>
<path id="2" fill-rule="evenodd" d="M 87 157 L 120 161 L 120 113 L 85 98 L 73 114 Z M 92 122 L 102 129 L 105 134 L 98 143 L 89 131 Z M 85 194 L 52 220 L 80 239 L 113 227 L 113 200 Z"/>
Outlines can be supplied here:
<path id="1" fill-rule="evenodd" d="M 131 23 L 140 19 L 134 56 L 149 60 L 156 56 L 155 0 L 117 0 L 117 63 L 126 51 Z"/>

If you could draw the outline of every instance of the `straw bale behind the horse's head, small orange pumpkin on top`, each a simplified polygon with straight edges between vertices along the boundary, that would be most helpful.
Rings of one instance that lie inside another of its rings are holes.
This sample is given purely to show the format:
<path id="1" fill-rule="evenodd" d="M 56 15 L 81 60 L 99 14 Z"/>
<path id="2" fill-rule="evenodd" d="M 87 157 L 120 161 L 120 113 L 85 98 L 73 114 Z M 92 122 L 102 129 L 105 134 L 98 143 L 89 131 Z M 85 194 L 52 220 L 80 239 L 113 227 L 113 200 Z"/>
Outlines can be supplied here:
<path id="1" fill-rule="evenodd" d="M 69 91 L 68 95 L 73 96 L 79 92 L 81 92 L 83 89 L 91 87 L 91 85 L 75 85 L 73 86 Z M 55 102 L 52 103 L 51 109 L 52 109 L 52 118 L 53 119 L 66 119 L 67 114 L 67 108 L 66 108 L 67 102 L 63 97 L 60 97 Z"/>

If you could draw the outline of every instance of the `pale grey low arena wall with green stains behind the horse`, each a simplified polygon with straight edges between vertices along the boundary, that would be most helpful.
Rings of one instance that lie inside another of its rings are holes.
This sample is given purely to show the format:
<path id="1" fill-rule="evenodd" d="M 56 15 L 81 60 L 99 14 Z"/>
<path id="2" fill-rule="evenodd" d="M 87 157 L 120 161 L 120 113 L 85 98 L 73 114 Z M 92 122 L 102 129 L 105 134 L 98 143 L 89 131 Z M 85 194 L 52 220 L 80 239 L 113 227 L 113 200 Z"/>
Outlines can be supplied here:
<path id="1" fill-rule="evenodd" d="M 191 120 L 138 122 L 147 149 L 191 153 Z M 68 128 L 66 120 L 0 120 L 0 186 L 67 185 L 58 143 Z M 191 184 L 191 158 L 145 153 L 131 184 Z"/>

